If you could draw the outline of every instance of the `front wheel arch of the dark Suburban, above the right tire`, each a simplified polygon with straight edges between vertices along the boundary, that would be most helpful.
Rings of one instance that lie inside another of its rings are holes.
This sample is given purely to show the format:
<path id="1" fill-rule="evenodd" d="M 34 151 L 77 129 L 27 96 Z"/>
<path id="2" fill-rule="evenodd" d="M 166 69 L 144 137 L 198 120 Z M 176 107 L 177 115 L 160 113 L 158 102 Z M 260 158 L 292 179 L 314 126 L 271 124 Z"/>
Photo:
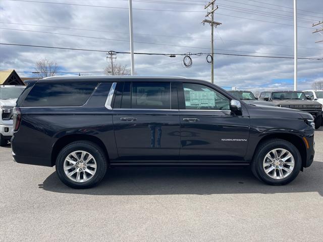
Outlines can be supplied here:
<path id="1" fill-rule="evenodd" d="M 279 139 L 283 139 L 283 140 L 286 140 L 292 144 L 294 144 L 294 146 L 296 147 L 296 149 L 299 151 L 300 155 L 301 155 L 301 159 L 302 159 L 302 168 L 301 170 L 303 169 L 303 167 L 306 166 L 306 155 L 307 155 L 307 151 L 306 151 L 306 144 L 304 143 L 303 139 L 295 134 L 289 134 L 289 133 L 272 133 L 272 134 L 267 134 L 265 136 L 263 136 L 255 150 L 254 150 L 254 153 L 253 153 L 253 156 L 252 156 L 252 160 L 254 158 L 254 155 L 258 149 L 258 147 L 266 140 L 269 140 L 269 139 L 274 139 L 274 138 L 279 138 Z"/>

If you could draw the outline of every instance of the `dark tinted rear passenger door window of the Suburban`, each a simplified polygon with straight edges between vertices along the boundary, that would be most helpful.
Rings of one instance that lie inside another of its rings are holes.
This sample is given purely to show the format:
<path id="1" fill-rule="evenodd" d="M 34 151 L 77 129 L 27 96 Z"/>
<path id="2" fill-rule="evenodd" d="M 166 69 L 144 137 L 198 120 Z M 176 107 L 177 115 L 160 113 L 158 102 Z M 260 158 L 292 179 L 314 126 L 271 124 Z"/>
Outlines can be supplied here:
<path id="1" fill-rule="evenodd" d="M 171 109 L 170 82 L 132 82 L 131 108 Z"/>

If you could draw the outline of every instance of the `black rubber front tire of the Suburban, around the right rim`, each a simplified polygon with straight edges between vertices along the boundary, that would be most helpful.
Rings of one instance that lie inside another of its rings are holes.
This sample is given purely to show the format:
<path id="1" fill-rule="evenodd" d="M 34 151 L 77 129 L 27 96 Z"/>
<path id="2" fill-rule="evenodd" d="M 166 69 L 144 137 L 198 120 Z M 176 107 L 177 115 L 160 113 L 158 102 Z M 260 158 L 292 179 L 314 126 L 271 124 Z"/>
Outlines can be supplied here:
<path id="1" fill-rule="evenodd" d="M 282 179 L 274 179 L 265 173 L 263 169 L 263 160 L 268 152 L 272 151 L 273 149 L 279 149 L 279 148 L 289 151 L 294 157 L 295 164 L 294 164 L 294 169 L 290 173 L 290 175 Z M 286 140 L 277 138 L 277 139 L 266 140 L 260 144 L 260 146 L 257 148 L 257 151 L 255 152 L 253 161 L 251 162 L 251 171 L 256 178 L 258 178 L 259 180 L 267 184 L 285 185 L 296 178 L 296 176 L 298 175 L 301 169 L 301 166 L 302 166 L 302 159 L 297 148 L 292 143 Z"/>

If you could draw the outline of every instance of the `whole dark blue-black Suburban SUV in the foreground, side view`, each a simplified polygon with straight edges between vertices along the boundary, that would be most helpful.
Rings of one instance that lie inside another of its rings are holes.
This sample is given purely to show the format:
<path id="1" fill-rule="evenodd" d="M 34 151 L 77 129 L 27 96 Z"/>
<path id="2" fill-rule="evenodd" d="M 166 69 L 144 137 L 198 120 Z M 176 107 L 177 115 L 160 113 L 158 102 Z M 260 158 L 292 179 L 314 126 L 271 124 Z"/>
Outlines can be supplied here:
<path id="1" fill-rule="evenodd" d="M 109 167 L 251 165 L 283 185 L 314 157 L 313 117 L 237 101 L 180 77 L 52 77 L 28 84 L 14 109 L 13 158 L 56 166 L 74 188 Z"/>

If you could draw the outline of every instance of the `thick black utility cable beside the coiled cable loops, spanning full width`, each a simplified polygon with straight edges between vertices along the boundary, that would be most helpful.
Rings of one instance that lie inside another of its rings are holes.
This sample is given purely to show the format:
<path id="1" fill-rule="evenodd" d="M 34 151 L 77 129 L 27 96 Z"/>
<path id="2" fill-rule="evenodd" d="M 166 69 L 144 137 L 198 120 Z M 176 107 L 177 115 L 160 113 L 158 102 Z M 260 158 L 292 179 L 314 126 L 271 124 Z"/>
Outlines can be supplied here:
<path id="1" fill-rule="evenodd" d="M 89 50 L 89 49 L 75 49 L 75 48 L 68 48 L 68 47 L 56 47 L 56 46 L 44 46 L 44 45 L 30 45 L 30 44 L 13 44 L 13 43 L 0 43 L 3 45 L 13 45 L 13 46 L 28 46 L 28 47 L 41 47 L 41 48 L 48 48 L 48 49 L 60 49 L 60 50 L 73 50 L 73 51 L 90 51 L 90 52 L 104 52 L 107 53 L 108 51 L 103 50 Z M 207 49 L 207 48 L 206 48 Z M 130 52 L 115 52 L 116 54 L 130 54 Z M 134 53 L 135 55 L 186 55 L 186 54 L 161 54 L 161 53 Z M 196 53 L 191 55 L 209 55 L 210 53 Z M 293 57 L 283 57 L 283 56 L 256 56 L 256 55 L 239 55 L 239 54 L 228 54 L 228 53 L 214 53 L 215 55 L 225 55 L 225 56 L 241 56 L 241 57 L 261 57 L 261 58 L 277 58 L 277 59 L 294 59 Z M 323 58 L 309 58 L 309 57 L 299 57 L 297 59 L 304 59 L 304 60 L 323 60 Z"/>

